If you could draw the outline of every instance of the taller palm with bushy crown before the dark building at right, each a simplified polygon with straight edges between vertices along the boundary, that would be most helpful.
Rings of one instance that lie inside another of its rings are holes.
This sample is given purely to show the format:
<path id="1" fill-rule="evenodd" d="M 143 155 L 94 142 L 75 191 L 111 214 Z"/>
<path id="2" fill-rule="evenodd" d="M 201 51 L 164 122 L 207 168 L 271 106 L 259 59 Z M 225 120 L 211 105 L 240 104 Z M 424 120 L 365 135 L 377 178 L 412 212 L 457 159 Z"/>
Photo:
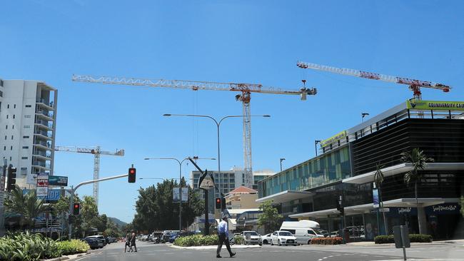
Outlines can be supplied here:
<path id="1" fill-rule="evenodd" d="M 428 158 L 423 150 L 420 150 L 420 148 L 413 148 L 411 151 L 401 153 L 401 160 L 405 163 L 413 164 L 413 169 L 405 173 L 404 182 L 407 185 L 414 183 L 415 207 L 418 210 L 419 234 L 422 234 L 424 227 L 422 226 L 422 220 L 419 215 L 418 182 L 423 180 L 423 173 L 419 170 L 424 170 L 428 162 L 433 162 L 433 158 Z"/>

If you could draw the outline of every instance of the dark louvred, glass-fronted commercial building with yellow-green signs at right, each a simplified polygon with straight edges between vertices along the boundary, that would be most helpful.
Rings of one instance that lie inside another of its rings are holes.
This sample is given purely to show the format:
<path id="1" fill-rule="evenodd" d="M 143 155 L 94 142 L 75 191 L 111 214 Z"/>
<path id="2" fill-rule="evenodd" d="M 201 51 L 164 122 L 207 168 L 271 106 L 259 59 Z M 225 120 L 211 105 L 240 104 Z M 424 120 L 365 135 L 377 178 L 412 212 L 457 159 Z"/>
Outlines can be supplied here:
<path id="1" fill-rule="evenodd" d="M 420 148 L 433 158 L 418 183 L 406 185 L 411 163 L 401 153 Z M 373 205 L 377 165 L 383 213 Z M 328 232 L 345 227 L 351 237 L 372 240 L 418 220 L 435 239 L 464 237 L 459 198 L 464 195 L 464 102 L 406 101 L 368 121 L 321 140 L 321 155 L 258 183 L 258 203 L 273 200 L 286 220 L 316 220 Z M 337 208 L 342 198 L 344 216 Z M 420 218 L 418 219 L 418 215 Z"/>

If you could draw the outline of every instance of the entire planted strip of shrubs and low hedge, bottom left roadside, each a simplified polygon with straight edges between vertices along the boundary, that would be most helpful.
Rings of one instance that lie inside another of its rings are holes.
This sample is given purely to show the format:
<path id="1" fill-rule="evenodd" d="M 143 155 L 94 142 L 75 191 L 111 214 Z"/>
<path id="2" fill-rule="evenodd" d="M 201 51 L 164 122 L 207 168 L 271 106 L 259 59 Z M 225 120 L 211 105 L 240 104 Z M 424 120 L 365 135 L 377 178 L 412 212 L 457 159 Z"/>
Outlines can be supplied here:
<path id="1" fill-rule="evenodd" d="M 80 240 L 56 242 L 41 234 L 29 232 L 0 237 L 0 261 L 37 261 L 87 252 L 89 249 L 89 244 Z"/>

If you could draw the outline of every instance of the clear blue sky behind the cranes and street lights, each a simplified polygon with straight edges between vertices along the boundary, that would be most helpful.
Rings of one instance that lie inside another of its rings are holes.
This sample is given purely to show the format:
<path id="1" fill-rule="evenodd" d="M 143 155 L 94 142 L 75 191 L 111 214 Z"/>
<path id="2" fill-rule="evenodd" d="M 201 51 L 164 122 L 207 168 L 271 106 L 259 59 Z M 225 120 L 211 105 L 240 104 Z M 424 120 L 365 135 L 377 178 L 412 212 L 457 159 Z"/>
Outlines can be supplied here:
<path id="1" fill-rule="evenodd" d="M 237 93 L 71 81 L 73 73 L 261 83 L 318 88 L 316 96 L 253 93 L 253 169 L 285 168 L 314 156 L 315 139 L 360 123 L 412 97 L 407 86 L 303 70 L 296 61 L 357 68 L 453 86 L 423 89 L 425 100 L 462 101 L 463 1 L 2 1 L 0 77 L 44 80 L 59 89 L 57 145 L 124 148 L 101 158 L 101 176 L 175 178 L 173 161 L 216 158 L 208 119 L 163 113 L 240 115 Z M 56 153 L 56 175 L 89 180 L 92 155 Z M 221 125 L 221 168 L 243 165 L 242 123 Z M 216 169 L 215 161 L 201 162 Z M 193 170 L 183 166 L 183 175 Z M 131 221 L 139 187 L 157 180 L 100 185 L 100 212 Z M 79 189 L 91 195 L 91 186 Z"/>

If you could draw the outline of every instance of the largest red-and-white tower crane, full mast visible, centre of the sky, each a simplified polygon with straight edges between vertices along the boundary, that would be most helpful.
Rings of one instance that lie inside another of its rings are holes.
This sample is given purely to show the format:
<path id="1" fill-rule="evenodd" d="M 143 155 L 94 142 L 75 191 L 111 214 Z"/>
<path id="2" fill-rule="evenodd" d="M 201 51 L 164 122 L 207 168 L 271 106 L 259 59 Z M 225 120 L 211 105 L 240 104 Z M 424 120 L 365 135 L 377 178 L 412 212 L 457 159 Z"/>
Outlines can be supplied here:
<path id="1" fill-rule="evenodd" d="M 288 94 L 299 95 L 302 101 L 306 100 L 307 95 L 316 95 L 316 88 L 306 88 L 303 81 L 303 88 L 300 90 L 284 90 L 276 87 L 265 87 L 256 83 L 217 83 L 211 81 L 183 81 L 183 80 L 165 80 L 149 78 L 126 78 L 117 76 L 86 76 L 73 75 L 72 81 L 81 81 L 86 83 L 104 83 L 129 86 L 149 86 L 161 88 L 183 88 L 193 91 L 237 91 L 236 100 L 243 104 L 243 165 L 245 172 L 245 185 L 249 188 L 253 185 L 253 170 L 251 163 L 251 113 L 250 100 L 251 93 L 268 93 L 268 94 Z"/>

